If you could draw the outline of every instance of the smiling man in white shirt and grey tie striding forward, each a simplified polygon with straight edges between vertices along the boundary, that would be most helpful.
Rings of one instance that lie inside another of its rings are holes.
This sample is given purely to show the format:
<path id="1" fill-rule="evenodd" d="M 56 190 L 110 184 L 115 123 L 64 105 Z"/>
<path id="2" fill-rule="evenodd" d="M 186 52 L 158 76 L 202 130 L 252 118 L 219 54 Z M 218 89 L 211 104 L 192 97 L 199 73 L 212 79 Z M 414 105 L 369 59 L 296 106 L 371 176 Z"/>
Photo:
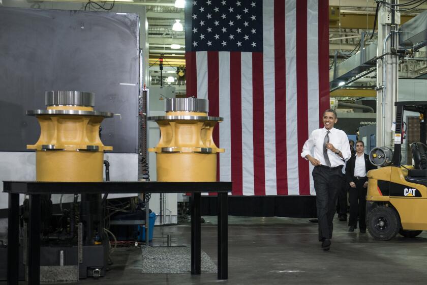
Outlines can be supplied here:
<path id="1" fill-rule="evenodd" d="M 346 133 L 333 128 L 337 121 L 335 110 L 324 111 L 324 127 L 314 130 L 310 134 L 301 153 L 303 158 L 315 166 L 312 175 L 316 191 L 319 241 L 322 242 L 323 250 L 330 248 L 333 230 L 332 219 L 343 176 L 342 167 L 344 161 L 351 156 Z"/>

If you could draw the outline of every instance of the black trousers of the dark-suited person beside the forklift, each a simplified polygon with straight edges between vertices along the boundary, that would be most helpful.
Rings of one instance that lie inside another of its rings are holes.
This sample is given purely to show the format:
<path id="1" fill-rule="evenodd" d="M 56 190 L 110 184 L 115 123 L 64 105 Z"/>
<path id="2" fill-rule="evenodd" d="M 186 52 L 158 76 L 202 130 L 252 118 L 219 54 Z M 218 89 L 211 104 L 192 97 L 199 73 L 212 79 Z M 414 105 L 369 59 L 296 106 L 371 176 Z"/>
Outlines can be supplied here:
<path id="1" fill-rule="evenodd" d="M 357 225 L 357 215 L 359 216 L 359 229 L 366 230 L 366 193 L 367 188 L 363 184 L 368 181 L 367 178 L 355 179 L 356 188 L 350 188 L 348 191 L 348 200 L 350 202 L 350 218 L 348 225 Z"/>

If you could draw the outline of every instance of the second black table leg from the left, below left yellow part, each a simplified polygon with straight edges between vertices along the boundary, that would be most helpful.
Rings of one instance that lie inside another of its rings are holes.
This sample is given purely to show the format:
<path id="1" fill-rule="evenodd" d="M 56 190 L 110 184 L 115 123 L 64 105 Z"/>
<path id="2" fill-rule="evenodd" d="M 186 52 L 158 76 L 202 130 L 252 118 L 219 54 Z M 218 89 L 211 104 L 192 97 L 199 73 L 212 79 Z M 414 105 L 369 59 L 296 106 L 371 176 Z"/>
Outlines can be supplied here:
<path id="1" fill-rule="evenodd" d="M 40 284 L 40 195 L 29 195 L 28 284 Z"/>

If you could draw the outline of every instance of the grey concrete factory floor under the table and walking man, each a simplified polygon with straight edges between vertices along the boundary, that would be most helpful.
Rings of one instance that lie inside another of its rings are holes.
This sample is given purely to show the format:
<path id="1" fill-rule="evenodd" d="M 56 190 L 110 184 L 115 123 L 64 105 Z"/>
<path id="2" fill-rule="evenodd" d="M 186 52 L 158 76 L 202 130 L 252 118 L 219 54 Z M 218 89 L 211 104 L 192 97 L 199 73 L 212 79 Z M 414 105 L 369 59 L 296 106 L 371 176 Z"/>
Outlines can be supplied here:
<path id="1" fill-rule="evenodd" d="M 204 217 L 202 250 L 216 263 L 215 217 Z M 114 265 L 99 280 L 80 284 L 424 284 L 427 280 L 427 232 L 417 238 L 397 236 L 375 241 L 335 219 L 331 250 L 317 241 L 317 224 L 305 218 L 229 217 L 229 279 L 216 273 L 142 274 L 140 249 L 120 248 Z M 155 243 L 190 245 L 190 225 L 155 227 Z M 162 235 L 164 238 L 162 239 Z"/>

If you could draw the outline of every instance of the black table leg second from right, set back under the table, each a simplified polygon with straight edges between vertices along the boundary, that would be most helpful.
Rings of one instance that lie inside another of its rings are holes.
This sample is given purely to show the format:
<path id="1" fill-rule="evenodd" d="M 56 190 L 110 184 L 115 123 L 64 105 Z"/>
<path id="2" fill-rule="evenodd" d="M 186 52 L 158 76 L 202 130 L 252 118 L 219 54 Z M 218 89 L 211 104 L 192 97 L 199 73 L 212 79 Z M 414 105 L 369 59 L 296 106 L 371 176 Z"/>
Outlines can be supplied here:
<path id="1" fill-rule="evenodd" d="M 200 193 L 193 193 L 191 204 L 191 274 L 201 270 Z"/>

